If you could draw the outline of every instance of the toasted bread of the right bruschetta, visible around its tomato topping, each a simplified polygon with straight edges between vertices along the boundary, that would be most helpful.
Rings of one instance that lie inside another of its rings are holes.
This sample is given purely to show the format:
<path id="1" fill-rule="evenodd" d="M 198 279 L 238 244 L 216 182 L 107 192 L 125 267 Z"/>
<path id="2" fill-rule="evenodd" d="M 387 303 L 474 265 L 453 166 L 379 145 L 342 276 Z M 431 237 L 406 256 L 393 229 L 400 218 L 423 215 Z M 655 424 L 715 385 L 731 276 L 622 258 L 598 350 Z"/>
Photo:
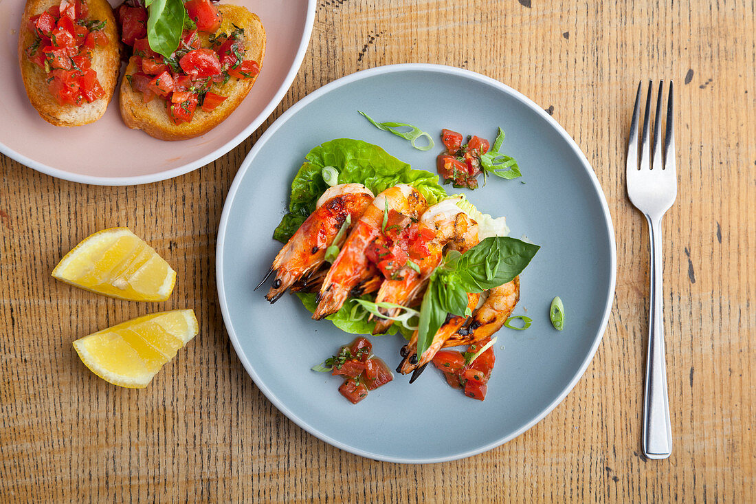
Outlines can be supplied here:
<path id="1" fill-rule="evenodd" d="M 265 29 L 260 18 L 238 5 L 218 5 L 218 9 L 223 15 L 223 23 L 218 33 L 231 33 L 234 25 L 243 28 L 244 59 L 254 60 L 262 68 L 262 58 L 265 57 Z M 203 42 L 203 45 L 206 45 L 206 39 Z M 209 132 L 241 104 L 257 79 L 257 76 L 252 79 L 232 78 L 225 85 L 215 84 L 211 91 L 228 98 L 211 112 L 197 107 L 189 123 L 175 125 L 166 112 L 165 100 L 154 98 L 149 103 L 144 103 L 141 92 L 132 89 L 126 76 L 131 76 L 136 71 L 137 63 L 132 56 L 121 81 L 123 122 L 129 128 L 141 129 L 147 135 L 160 140 L 186 140 Z"/>

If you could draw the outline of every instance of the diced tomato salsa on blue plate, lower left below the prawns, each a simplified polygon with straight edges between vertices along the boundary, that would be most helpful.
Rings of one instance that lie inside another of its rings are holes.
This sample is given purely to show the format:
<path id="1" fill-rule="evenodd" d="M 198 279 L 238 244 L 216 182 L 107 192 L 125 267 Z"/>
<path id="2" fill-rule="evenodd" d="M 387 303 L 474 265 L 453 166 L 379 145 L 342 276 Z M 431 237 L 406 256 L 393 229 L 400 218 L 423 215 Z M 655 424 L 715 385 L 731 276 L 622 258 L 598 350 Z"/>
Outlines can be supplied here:
<path id="1" fill-rule="evenodd" d="M 367 338 L 357 338 L 349 345 L 341 347 L 339 353 L 326 359 L 333 376 L 343 376 L 344 383 L 339 392 L 352 404 L 357 404 L 370 390 L 389 383 L 394 379 L 386 363 L 372 355 L 373 345 Z"/>

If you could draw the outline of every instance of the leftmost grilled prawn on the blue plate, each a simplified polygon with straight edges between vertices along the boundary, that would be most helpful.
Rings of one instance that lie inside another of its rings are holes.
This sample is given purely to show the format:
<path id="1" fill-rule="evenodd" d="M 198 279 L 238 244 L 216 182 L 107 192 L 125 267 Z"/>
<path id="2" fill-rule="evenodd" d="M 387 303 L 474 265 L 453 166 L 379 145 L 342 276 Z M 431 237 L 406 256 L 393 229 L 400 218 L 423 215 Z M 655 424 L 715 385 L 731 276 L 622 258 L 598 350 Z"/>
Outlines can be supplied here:
<path id="1" fill-rule="evenodd" d="M 324 263 L 326 249 L 347 217 L 357 222 L 373 201 L 373 193 L 362 184 L 341 184 L 328 188 L 318 199 L 313 213 L 296 230 L 273 261 L 265 283 L 275 273 L 271 289 L 265 298 L 274 303 L 295 282 L 305 282 Z M 258 287 L 260 287 L 258 285 Z"/>

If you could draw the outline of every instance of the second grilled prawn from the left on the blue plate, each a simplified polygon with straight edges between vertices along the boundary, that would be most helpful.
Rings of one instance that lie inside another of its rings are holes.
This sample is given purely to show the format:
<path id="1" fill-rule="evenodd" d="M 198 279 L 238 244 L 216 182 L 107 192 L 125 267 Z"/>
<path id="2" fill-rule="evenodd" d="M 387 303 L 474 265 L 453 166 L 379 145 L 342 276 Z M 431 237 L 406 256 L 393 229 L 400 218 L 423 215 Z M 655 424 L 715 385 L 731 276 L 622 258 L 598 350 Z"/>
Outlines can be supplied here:
<path id="1" fill-rule="evenodd" d="M 339 256 L 328 270 L 312 318 L 320 320 L 338 311 L 353 288 L 376 274 L 365 251 L 382 232 L 384 217 L 389 210 L 417 219 L 426 208 L 423 194 L 411 185 L 395 185 L 378 194 L 349 233 Z"/>

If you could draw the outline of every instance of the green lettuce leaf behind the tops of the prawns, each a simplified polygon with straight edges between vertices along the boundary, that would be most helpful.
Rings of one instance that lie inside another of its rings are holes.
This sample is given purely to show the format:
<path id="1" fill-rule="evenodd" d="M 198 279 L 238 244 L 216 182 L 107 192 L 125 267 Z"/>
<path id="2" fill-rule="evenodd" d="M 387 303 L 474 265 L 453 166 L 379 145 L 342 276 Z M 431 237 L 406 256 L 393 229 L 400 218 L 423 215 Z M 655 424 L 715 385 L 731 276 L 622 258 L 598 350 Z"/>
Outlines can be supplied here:
<path id="1" fill-rule="evenodd" d="M 364 184 L 373 194 L 397 184 L 409 184 L 425 196 L 429 205 L 446 196 L 438 176 L 412 167 L 387 153 L 378 145 L 352 138 L 337 138 L 312 149 L 305 156 L 291 184 L 289 213 L 283 216 L 273 238 L 286 243 L 302 222 L 315 210 L 315 204 L 328 184 L 321 171 L 333 166 L 339 171 L 339 184 Z"/>

